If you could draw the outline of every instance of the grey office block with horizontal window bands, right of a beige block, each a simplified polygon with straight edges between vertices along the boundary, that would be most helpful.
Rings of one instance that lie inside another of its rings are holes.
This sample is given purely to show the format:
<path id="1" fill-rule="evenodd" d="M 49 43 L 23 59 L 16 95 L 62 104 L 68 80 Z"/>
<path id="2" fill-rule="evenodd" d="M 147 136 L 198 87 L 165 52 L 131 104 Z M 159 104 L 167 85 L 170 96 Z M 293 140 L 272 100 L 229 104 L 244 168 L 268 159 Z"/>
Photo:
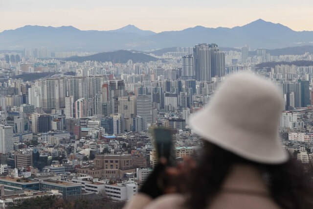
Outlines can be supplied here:
<path id="1" fill-rule="evenodd" d="M 137 116 L 144 117 L 147 123 L 152 123 L 152 96 L 137 96 Z"/>

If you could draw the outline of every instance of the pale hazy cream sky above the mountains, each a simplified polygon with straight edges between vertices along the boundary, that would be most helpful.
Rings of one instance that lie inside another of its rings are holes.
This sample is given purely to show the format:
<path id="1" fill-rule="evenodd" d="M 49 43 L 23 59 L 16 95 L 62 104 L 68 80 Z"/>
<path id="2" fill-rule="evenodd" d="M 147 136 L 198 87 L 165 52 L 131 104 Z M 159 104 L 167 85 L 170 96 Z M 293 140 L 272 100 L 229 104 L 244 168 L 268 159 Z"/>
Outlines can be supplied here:
<path id="1" fill-rule="evenodd" d="M 313 30 L 313 0 L 0 0 L 0 31 L 27 24 L 109 30 L 134 24 L 155 32 L 257 19 Z"/>

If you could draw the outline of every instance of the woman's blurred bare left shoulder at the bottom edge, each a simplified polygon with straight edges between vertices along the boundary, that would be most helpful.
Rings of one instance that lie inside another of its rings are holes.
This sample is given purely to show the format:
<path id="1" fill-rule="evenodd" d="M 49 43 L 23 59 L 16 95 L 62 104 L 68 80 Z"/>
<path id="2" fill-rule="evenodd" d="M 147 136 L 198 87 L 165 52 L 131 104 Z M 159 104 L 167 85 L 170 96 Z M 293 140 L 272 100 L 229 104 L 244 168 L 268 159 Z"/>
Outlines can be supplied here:
<path id="1" fill-rule="evenodd" d="M 181 194 L 167 194 L 152 201 L 145 209 L 184 209 L 184 196 Z"/>

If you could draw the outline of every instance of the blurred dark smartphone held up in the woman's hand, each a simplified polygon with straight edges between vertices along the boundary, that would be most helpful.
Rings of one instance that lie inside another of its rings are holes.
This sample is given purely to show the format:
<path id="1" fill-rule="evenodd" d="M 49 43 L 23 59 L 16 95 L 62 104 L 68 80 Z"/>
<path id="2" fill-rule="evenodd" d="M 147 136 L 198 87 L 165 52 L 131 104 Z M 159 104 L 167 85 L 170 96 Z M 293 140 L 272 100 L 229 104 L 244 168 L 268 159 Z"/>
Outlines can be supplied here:
<path id="1" fill-rule="evenodd" d="M 172 130 L 166 128 L 154 128 L 153 137 L 156 146 L 157 159 L 165 158 L 168 165 L 175 164 Z"/>

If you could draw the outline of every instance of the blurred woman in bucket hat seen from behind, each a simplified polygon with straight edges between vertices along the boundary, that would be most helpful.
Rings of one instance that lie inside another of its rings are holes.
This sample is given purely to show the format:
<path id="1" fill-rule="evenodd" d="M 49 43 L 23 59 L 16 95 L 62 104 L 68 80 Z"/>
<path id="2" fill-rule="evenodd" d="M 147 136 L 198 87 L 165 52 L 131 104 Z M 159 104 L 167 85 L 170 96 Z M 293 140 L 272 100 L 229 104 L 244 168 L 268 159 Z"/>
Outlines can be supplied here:
<path id="1" fill-rule="evenodd" d="M 180 180 L 174 187 L 158 184 L 166 172 L 157 165 L 126 208 L 313 208 L 311 179 L 288 158 L 278 138 L 283 105 L 268 81 L 250 73 L 229 76 L 212 103 L 190 120 L 204 140 L 199 163 L 189 172 L 169 168 Z M 167 191 L 176 193 L 163 195 Z"/>

